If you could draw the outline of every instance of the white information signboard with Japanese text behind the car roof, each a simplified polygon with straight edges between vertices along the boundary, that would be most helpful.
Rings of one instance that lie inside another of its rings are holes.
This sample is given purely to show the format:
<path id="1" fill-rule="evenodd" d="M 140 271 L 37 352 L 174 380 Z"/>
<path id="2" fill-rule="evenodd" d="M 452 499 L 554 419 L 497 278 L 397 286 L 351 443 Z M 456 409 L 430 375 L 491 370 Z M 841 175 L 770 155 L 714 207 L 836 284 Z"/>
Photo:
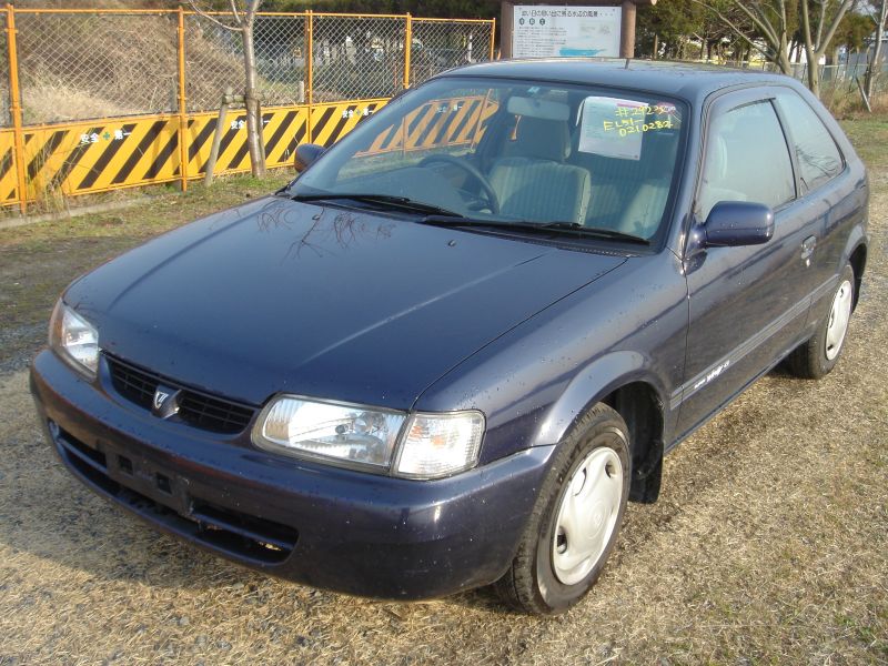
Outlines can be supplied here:
<path id="1" fill-rule="evenodd" d="M 516 4 L 514 58 L 619 57 L 619 7 Z"/>

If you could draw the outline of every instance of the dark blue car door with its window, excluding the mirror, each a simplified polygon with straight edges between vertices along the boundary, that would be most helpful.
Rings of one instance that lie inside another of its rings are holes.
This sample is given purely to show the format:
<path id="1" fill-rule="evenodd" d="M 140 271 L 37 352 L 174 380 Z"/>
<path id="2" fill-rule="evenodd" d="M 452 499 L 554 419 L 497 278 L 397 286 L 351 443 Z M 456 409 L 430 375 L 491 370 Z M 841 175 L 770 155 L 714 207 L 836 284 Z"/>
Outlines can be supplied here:
<path id="1" fill-rule="evenodd" d="M 774 92 L 746 90 L 713 102 L 704 150 L 694 205 L 698 229 L 688 234 L 685 256 L 689 323 L 682 434 L 800 342 L 814 280 L 805 256 L 814 223 L 797 205 L 797 165 Z M 769 205 L 774 236 L 761 245 L 703 246 L 700 225 L 720 201 Z"/>

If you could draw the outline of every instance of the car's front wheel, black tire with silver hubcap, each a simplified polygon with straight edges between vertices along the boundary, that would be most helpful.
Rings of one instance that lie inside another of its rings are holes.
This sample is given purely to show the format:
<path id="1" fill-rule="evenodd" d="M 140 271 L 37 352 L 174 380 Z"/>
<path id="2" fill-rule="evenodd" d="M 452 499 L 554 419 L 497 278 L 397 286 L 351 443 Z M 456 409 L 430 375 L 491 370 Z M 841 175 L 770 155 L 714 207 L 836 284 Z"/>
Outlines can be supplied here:
<path id="1" fill-rule="evenodd" d="M 558 445 L 500 595 L 526 613 L 552 615 L 579 602 L 598 579 L 629 494 L 626 424 L 595 405 Z"/>

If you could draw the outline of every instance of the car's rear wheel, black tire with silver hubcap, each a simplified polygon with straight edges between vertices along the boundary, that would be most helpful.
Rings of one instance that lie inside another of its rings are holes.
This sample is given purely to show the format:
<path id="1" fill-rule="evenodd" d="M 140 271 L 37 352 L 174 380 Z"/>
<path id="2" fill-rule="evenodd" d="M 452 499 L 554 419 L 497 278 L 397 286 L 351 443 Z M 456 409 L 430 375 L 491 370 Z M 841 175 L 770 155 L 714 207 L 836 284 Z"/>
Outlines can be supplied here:
<path id="1" fill-rule="evenodd" d="M 817 324 L 817 333 L 787 359 L 789 371 L 804 380 L 819 380 L 836 366 L 848 339 L 848 322 L 855 300 L 854 269 L 846 264 L 833 292 L 829 310 Z"/>

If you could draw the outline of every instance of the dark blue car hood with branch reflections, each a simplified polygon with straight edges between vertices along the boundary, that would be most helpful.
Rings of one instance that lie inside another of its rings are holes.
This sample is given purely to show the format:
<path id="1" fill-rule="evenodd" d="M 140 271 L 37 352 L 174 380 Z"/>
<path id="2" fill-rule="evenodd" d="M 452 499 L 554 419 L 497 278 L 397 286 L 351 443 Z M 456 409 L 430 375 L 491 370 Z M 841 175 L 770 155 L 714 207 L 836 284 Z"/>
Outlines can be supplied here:
<path id="1" fill-rule="evenodd" d="M 292 392 L 408 408 L 624 261 L 265 198 L 109 262 L 65 301 L 105 351 L 233 400 Z"/>

